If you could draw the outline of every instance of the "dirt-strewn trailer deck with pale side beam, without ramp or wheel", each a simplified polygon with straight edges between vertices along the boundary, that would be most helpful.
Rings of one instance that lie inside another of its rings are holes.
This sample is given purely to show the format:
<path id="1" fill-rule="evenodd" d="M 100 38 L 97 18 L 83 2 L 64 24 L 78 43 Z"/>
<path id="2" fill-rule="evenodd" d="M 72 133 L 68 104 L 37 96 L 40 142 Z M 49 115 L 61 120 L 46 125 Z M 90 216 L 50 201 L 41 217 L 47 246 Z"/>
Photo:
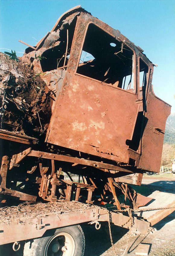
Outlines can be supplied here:
<path id="1" fill-rule="evenodd" d="M 110 219 L 115 225 L 129 229 L 131 220 L 127 212 L 110 211 Z M 0 245 L 38 238 L 48 229 L 92 221 L 98 224 L 108 220 L 109 211 L 106 208 L 78 202 L 5 207 L 1 210 Z M 149 226 L 149 222 L 134 217 L 133 229 L 144 233 Z"/>

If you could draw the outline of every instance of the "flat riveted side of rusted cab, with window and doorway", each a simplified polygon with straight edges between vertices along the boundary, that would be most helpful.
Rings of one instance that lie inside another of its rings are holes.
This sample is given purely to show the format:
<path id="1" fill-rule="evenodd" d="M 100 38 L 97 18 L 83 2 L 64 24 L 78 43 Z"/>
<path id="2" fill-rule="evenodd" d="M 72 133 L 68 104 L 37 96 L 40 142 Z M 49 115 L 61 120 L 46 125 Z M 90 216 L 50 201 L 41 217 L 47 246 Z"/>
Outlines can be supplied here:
<path id="1" fill-rule="evenodd" d="M 153 66 L 81 10 L 46 142 L 159 172 L 170 106 L 152 91 Z"/>

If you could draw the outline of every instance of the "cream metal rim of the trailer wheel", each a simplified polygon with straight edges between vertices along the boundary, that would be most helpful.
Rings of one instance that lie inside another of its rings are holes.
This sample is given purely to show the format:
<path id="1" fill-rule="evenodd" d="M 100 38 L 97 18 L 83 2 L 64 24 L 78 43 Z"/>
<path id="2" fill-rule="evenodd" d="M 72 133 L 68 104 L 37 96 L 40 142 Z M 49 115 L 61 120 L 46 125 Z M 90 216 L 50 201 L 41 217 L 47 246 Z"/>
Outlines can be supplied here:
<path id="1" fill-rule="evenodd" d="M 67 232 L 53 235 L 46 244 L 44 256 L 73 256 L 75 241 Z"/>

